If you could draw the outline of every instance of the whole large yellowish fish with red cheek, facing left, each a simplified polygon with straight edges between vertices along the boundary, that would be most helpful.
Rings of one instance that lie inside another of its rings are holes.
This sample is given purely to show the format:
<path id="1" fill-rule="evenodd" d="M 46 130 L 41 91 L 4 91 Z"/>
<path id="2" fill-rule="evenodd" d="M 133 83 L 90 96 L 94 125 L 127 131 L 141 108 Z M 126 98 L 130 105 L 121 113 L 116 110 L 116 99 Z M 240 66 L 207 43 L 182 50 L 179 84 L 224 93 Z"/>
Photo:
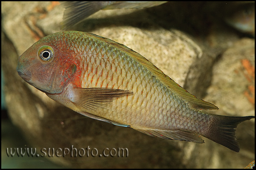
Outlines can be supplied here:
<path id="1" fill-rule="evenodd" d="M 163 139 L 204 143 L 202 135 L 239 152 L 235 128 L 254 118 L 201 111 L 218 108 L 132 49 L 87 32 L 63 31 L 38 40 L 19 57 L 17 72 L 73 111 Z"/>

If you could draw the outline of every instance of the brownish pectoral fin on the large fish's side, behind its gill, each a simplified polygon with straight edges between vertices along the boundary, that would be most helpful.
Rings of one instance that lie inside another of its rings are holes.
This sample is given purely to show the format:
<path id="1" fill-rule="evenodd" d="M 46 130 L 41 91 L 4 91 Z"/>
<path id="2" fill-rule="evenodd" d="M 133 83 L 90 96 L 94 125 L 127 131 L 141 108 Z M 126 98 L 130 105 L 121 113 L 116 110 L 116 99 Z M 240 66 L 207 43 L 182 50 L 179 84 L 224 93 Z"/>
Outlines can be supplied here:
<path id="1" fill-rule="evenodd" d="M 73 89 L 73 103 L 81 111 L 108 108 L 109 104 L 116 98 L 132 95 L 133 92 L 115 88 L 76 88 Z"/>

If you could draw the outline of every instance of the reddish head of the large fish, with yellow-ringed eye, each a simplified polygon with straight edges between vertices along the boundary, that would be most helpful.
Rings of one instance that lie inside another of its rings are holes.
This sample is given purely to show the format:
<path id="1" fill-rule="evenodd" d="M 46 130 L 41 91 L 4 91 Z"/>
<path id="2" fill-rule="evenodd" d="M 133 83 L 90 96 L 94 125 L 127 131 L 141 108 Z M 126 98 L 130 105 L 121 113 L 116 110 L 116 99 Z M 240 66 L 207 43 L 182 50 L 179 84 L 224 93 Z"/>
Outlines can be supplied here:
<path id="1" fill-rule="evenodd" d="M 74 55 L 62 39 L 49 35 L 28 48 L 18 59 L 20 77 L 45 93 L 61 93 L 76 73 Z"/>

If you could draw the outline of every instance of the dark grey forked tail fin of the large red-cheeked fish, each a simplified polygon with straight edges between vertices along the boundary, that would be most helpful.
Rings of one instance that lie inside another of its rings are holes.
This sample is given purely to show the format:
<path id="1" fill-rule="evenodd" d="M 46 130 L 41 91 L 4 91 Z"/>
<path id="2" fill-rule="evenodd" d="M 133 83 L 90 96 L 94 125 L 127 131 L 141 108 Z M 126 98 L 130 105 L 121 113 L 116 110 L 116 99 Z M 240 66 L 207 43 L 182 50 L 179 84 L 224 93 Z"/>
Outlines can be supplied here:
<path id="1" fill-rule="evenodd" d="M 212 127 L 206 134 L 202 135 L 231 150 L 239 152 L 239 144 L 236 141 L 236 127 L 239 123 L 253 118 L 255 118 L 255 116 L 238 117 L 213 115 Z"/>

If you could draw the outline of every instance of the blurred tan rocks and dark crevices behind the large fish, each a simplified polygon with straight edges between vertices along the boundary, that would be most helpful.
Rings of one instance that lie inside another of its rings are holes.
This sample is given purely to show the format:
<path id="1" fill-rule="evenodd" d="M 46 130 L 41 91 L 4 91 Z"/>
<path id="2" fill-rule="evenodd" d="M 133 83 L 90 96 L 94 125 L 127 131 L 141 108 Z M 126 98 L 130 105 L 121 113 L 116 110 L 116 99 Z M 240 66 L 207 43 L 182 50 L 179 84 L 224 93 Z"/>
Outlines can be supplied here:
<path id="1" fill-rule="evenodd" d="M 249 116 L 255 114 L 254 34 L 225 22 L 241 4 L 168 2 L 101 10 L 70 30 L 92 32 L 139 52 L 187 91 L 218 106 L 211 113 Z M 62 31 L 63 12 L 58 2 L 1 2 L 1 72 L 9 117 L 19 129 L 2 119 L 2 167 L 243 168 L 255 159 L 254 119 L 238 126 L 236 153 L 206 138 L 205 144 L 164 140 L 86 118 L 23 81 L 16 71 L 18 57 L 40 38 Z M 43 147 L 71 145 L 96 148 L 99 154 L 106 147 L 127 148 L 128 157 L 6 156 L 11 147 L 36 147 L 41 154 Z"/>

